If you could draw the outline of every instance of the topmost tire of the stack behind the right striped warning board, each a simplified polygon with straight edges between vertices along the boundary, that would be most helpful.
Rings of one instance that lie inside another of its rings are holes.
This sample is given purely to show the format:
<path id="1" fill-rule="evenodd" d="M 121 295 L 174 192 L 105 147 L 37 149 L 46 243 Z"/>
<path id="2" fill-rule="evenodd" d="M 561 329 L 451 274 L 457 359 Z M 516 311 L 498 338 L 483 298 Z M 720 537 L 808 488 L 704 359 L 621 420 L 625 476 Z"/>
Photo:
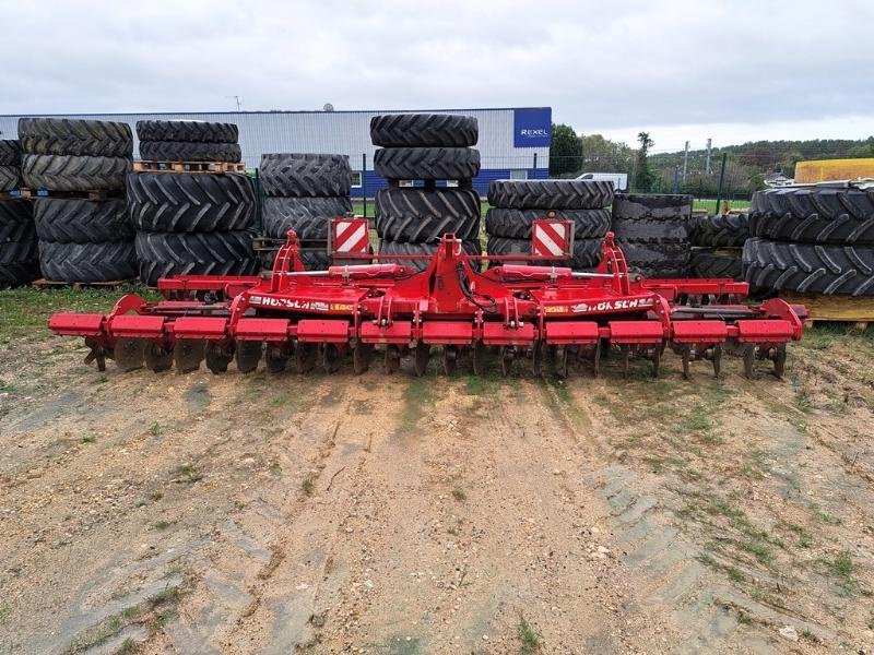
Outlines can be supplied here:
<path id="1" fill-rule="evenodd" d="M 613 184 L 594 180 L 495 180 L 488 203 L 508 210 L 600 210 L 613 202 Z"/>

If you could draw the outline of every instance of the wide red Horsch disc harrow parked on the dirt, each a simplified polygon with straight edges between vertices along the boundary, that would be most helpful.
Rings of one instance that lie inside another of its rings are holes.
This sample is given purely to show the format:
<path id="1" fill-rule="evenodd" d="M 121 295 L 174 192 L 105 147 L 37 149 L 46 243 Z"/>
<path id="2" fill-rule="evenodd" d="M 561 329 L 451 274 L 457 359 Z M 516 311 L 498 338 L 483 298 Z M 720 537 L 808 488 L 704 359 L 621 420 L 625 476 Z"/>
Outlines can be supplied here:
<path id="1" fill-rule="evenodd" d="M 410 357 L 421 376 L 439 352 L 447 373 L 462 359 L 482 373 L 497 353 L 505 374 L 527 359 L 535 374 L 564 377 L 576 360 L 590 361 L 598 374 L 602 356 L 616 350 L 626 372 L 629 358 L 642 357 L 658 374 L 671 347 L 685 374 L 697 359 L 710 360 L 719 374 L 725 349 L 742 356 L 747 376 L 756 359 L 772 360 L 782 376 L 786 345 L 801 338 L 803 308 L 779 299 L 744 305 L 746 283 L 730 279 L 645 279 L 628 272 L 612 235 L 602 249 L 597 272 L 580 273 L 504 263 L 518 254 L 466 254 L 446 235 L 422 272 L 403 263 L 414 255 L 305 271 L 290 233 L 270 275 L 162 279 L 164 300 L 131 294 L 106 315 L 58 313 L 49 327 L 83 336 L 85 361 L 101 370 L 111 358 L 123 370 L 175 365 L 188 372 L 205 359 L 215 373 L 232 361 L 248 372 L 264 359 L 271 372 L 291 361 L 300 372 L 335 371 L 351 352 L 356 373 L 379 354 L 387 372 Z M 363 251 L 343 257 L 373 257 Z M 493 267 L 481 273 L 485 260 Z"/>

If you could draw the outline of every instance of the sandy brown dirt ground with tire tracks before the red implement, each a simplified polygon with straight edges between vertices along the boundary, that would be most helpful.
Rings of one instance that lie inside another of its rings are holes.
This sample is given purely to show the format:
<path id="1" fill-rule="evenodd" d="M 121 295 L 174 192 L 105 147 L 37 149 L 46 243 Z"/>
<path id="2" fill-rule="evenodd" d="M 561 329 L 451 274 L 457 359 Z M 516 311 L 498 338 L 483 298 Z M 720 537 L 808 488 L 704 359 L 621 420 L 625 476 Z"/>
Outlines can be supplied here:
<path id="1" fill-rule="evenodd" d="M 810 332 L 784 381 L 557 383 L 101 373 L 20 323 L 0 653 L 874 647 L 872 330 Z"/>

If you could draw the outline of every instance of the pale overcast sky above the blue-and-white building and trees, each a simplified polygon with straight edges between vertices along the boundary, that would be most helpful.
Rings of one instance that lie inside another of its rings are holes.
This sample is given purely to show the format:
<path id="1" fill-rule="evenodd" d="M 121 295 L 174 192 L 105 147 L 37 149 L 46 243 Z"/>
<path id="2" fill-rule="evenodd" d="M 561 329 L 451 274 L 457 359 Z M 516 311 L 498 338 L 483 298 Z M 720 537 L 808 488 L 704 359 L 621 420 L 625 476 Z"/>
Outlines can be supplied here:
<path id="1" fill-rule="evenodd" d="M 654 151 L 874 134 L 874 0 L 0 0 L 0 114 L 551 106 Z"/>

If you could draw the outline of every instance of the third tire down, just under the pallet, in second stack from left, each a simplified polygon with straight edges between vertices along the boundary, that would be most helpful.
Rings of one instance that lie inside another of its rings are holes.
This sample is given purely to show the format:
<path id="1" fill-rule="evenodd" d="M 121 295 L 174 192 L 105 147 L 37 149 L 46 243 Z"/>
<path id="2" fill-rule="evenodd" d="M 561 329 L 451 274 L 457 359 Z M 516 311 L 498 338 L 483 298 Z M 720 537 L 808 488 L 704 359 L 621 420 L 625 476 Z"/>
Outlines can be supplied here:
<path id="1" fill-rule="evenodd" d="M 123 199 L 34 199 L 34 223 L 40 241 L 99 243 L 132 241 L 135 230 Z"/>

